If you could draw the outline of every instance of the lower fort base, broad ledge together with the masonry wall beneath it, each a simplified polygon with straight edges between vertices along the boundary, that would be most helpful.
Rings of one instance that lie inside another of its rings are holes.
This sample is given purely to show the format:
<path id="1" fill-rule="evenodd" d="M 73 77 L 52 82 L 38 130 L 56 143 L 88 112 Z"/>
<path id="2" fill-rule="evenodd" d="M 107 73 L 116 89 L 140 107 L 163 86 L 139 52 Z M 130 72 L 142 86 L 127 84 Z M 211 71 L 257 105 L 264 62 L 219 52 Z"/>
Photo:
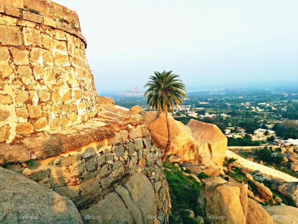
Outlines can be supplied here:
<path id="1" fill-rule="evenodd" d="M 2 144 L 0 156 L 9 160 L 7 169 L 71 199 L 79 209 L 107 202 L 101 200 L 125 183 L 128 176 L 142 173 L 147 178 L 144 183 L 153 189 L 153 217 L 160 218 L 160 223 L 168 222 L 171 204 L 162 171 L 162 150 L 153 143 L 140 115 L 102 106 L 97 118 L 85 124 L 30 136 L 17 143 Z M 23 162 L 29 159 L 32 164 Z M 12 162 L 23 163 L 17 166 Z"/>

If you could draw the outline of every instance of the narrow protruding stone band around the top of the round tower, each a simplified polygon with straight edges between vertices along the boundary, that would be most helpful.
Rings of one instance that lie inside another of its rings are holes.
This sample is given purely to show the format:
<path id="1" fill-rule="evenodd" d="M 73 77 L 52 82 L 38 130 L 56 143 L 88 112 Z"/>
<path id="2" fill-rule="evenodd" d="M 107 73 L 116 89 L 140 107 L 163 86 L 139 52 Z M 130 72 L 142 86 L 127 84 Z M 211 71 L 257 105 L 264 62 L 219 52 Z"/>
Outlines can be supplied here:
<path id="1" fill-rule="evenodd" d="M 29 11 L 20 10 L 18 8 L 4 6 L 3 4 L 0 4 L 0 14 L 13 16 L 19 19 L 32 21 L 46 26 L 51 26 L 55 29 L 63 30 L 69 34 L 75 35 L 76 37 L 80 38 L 84 42 L 85 48 L 87 48 L 87 41 L 79 30 L 74 29 L 71 25 L 62 23 L 60 21 L 56 21 L 53 18 L 49 18 L 49 16 L 37 15 Z"/>

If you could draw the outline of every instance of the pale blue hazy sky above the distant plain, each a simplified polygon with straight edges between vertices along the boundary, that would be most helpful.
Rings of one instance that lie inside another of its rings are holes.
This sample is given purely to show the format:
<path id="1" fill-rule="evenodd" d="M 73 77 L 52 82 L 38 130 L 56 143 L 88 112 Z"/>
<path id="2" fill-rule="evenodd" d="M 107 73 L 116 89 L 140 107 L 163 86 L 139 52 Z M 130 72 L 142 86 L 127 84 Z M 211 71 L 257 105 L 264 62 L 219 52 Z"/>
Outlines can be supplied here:
<path id="1" fill-rule="evenodd" d="M 56 0 L 79 15 L 98 92 L 173 70 L 187 90 L 298 81 L 298 1 Z"/>

